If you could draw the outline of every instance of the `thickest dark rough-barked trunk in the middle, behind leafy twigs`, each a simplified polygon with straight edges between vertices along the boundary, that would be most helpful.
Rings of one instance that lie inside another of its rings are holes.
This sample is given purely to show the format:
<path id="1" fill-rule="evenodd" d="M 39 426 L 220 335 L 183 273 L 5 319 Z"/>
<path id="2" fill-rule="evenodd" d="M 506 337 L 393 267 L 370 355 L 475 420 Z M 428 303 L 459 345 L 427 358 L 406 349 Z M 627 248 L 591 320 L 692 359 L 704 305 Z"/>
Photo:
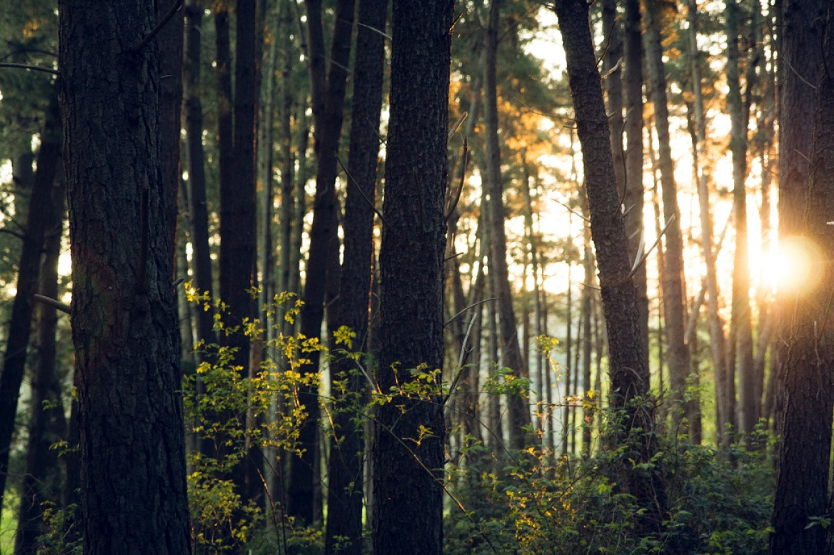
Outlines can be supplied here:
<path id="1" fill-rule="evenodd" d="M 383 203 L 388 225 L 379 252 L 377 380 L 386 393 L 413 379 L 410 368 L 425 364 L 430 372 L 443 364 L 452 7 L 450 0 L 394 0 Z M 439 398 L 395 398 L 379 407 L 373 451 L 375 553 L 443 552 L 444 440 Z"/>

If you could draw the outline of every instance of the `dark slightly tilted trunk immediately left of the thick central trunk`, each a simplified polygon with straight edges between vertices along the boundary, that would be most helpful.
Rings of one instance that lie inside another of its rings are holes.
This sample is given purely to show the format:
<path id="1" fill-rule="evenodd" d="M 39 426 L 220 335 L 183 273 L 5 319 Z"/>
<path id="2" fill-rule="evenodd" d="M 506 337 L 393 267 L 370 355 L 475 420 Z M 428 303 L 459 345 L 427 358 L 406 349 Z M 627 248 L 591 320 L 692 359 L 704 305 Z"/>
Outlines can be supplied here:
<path id="1" fill-rule="evenodd" d="M 382 108 L 385 19 L 388 0 L 360 0 L 354 57 L 353 123 L 350 127 L 347 198 L 344 205 L 344 263 L 339 283 L 337 323 L 356 333 L 353 348 L 367 353 L 370 293 L 374 276 L 374 198 Z M 363 363 L 366 365 L 366 363 Z M 347 358 L 330 363 L 331 379 L 342 380 L 344 397 L 332 388 L 336 404 L 330 441 L 328 517 L 324 547 L 328 553 L 362 552 L 364 425 L 355 406 L 367 398 L 368 384 Z M 339 373 L 344 376 L 339 378 Z M 347 406 L 339 406 L 344 403 Z M 337 546 L 339 547 L 337 549 Z"/>

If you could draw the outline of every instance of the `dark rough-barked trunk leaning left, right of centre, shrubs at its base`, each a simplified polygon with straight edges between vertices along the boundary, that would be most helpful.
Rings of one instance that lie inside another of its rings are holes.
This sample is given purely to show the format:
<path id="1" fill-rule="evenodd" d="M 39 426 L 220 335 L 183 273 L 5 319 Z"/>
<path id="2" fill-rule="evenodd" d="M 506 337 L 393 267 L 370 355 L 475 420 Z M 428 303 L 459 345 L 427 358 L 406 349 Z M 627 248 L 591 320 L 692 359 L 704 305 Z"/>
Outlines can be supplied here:
<path id="1" fill-rule="evenodd" d="M 565 45 L 570 97 L 582 144 L 590 232 L 608 333 L 610 406 L 622 414 L 620 426 L 614 427 L 610 441 L 624 442 L 639 428 L 641 437 L 630 443 L 634 450 L 632 458 L 636 462 L 648 462 L 656 453 L 649 373 L 641 352 L 628 244 L 616 189 L 600 73 L 590 37 L 588 5 L 584 0 L 565 0 L 557 2 L 555 10 Z M 646 508 L 646 514 L 638 521 L 641 533 L 656 531 L 666 512 L 666 493 L 659 473 L 631 469 L 625 479 L 625 488 Z"/>

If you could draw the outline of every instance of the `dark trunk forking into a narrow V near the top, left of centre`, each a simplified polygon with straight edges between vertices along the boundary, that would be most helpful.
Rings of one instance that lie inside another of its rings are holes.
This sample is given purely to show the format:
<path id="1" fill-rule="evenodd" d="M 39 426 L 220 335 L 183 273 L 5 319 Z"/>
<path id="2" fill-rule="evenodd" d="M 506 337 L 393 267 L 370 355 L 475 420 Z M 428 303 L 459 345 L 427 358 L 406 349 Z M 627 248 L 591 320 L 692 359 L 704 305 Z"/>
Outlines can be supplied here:
<path id="1" fill-rule="evenodd" d="M 350 38 L 353 29 L 354 0 L 339 0 L 336 5 L 330 65 L 324 73 L 324 31 L 320 0 L 307 0 L 307 29 L 309 31 L 309 75 L 313 97 L 313 119 L 316 153 L 316 193 L 313 203 L 313 224 L 310 228 L 307 275 L 304 282 L 304 306 L 301 308 L 301 334 L 305 338 L 319 338 L 324 319 L 324 304 L 329 301 L 328 280 L 338 279 L 339 257 L 336 228 L 337 203 L 335 193 L 339 136 L 342 130 L 344 91 L 350 58 Z M 338 282 L 337 282 L 338 283 Z M 333 288 L 333 283 L 329 283 Z M 326 342 L 323 342 L 326 343 Z M 309 364 L 301 373 L 309 376 L 319 372 L 319 353 L 309 353 Z M 306 413 L 301 424 L 300 457 L 289 459 L 288 512 L 302 522 L 314 521 L 314 467 L 316 446 L 319 443 L 319 388 L 314 381 L 299 390 L 299 403 Z"/>

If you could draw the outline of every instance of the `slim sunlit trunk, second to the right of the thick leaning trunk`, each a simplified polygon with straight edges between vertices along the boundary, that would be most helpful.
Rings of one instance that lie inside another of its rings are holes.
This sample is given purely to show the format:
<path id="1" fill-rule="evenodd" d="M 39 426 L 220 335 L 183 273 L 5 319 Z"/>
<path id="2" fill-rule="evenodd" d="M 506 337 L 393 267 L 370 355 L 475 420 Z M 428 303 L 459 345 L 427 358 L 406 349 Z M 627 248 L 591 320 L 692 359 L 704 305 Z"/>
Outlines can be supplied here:
<path id="1" fill-rule="evenodd" d="M 689 375 L 689 349 L 684 342 L 684 285 L 683 238 L 681 214 L 678 210 L 675 166 L 669 141 L 669 109 L 666 100 L 666 69 L 663 66 L 661 46 L 661 6 L 656 0 L 648 2 L 646 22 L 646 66 L 651 79 L 651 99 L 655 107 L 657 128 L 657 153 L 661 170 L 663 193 L 663 218 L 666 228 L 666 273 L 661 283 L 664 315 L 666 317 L 666 343 L 669 358 L 669 393 L 672 402 L 673 427 L 678 428 L 683 411 L 681 405 Z"/>

